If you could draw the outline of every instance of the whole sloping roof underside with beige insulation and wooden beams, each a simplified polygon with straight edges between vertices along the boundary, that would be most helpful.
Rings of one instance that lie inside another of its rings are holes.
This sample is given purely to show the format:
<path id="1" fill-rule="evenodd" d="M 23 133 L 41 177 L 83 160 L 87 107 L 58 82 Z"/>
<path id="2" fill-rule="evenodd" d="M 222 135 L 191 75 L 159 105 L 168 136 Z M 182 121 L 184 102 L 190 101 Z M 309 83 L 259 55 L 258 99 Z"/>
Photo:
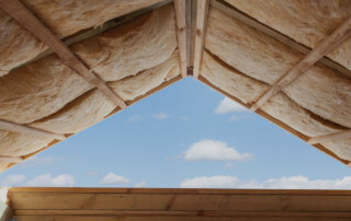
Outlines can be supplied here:
<path id="1" fill-rule="evenodd" d="M 0 171 L 186 75 L 350 165 L 348 0 L 0 8 Z"/>

